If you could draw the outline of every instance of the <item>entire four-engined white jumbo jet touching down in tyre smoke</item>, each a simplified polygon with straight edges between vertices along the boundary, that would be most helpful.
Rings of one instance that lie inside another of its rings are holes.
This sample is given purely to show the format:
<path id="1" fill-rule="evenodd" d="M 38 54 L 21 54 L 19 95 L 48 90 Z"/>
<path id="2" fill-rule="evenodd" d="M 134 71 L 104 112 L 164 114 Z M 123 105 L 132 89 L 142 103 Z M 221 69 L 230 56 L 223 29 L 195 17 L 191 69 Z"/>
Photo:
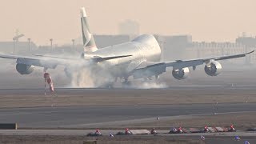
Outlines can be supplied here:
<path id="1" fill-rule="evenodd" d="M 152 34 L 143 34 L 134 38 L 130 42 L 121 43 L 98 49 L 94 42 L 87 22 L 86 10 L 81 9 L 82 38 L 84 52 L 80 58 L 64 58 L 50 55 L 22 56 L 14 54 L 0 54 L 0 58 L 15 59 L 16 70 L 19 74 L 30 74 L 34 66 L 47 69 L 54 69 L 57 66 L 64 66 L 67 76 L 73 72 L 90 71 L 90 77 L 95 83 L 98 79 L 104 79 L 101 85 L 112 86 L 118 78 L 122 79 L 124 85 L 129 84 L 129 78 L 158 78 L 160 74 L 166 72 L 167 67 L 172 67 L 172 75 L 176 79 L 184 79 L 188 76 L 192 67 L 205 64 L 205 72 L 210 76 L 217 76 L 222 70 L 222 65 L 218 62 L 225 59 L 241 58 L 244 54 L 234 54 L 212 58 L 198 58 L 190 60 L 177 60 L 172 62 L 161 62 L 161 49 Z M 86 73 L 81 73 L 86 74 Z M 100 85 L 95 85 L 100 86 Z"/>

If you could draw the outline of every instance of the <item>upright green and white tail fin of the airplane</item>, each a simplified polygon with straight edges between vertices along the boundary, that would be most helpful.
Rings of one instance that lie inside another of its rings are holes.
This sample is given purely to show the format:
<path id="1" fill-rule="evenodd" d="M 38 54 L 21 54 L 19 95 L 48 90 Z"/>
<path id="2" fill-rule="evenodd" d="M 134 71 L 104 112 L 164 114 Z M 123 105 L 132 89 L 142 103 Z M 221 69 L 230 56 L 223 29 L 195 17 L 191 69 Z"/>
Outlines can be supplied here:
<path id="1" fill-rule="evenodd" d="M 89 30 L 86 10 L 84 7 L 81 8 L 81 25 L 82 25 L 82 40 L 83 40 L 84 50 L 86 52 L 94 52 L 98 50 L 94 42 L 94 36 L 93 34 L 90 33 L 90 30 Z"/>

